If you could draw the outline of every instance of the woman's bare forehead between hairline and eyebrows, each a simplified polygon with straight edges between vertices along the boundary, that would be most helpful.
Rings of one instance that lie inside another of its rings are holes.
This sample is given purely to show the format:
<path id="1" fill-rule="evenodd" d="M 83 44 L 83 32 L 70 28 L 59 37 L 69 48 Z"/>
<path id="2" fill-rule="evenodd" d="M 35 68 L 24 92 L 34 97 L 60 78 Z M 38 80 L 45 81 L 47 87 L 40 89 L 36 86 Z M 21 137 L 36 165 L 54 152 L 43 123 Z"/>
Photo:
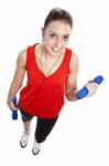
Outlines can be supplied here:
<path id="1" fill-rule="evenodd" d="M 72 28 L 70 25 L 65 21 L 52 21 L 46 27 L 46 32 L 55 32 L 57 34 L 70 34 Z"/>

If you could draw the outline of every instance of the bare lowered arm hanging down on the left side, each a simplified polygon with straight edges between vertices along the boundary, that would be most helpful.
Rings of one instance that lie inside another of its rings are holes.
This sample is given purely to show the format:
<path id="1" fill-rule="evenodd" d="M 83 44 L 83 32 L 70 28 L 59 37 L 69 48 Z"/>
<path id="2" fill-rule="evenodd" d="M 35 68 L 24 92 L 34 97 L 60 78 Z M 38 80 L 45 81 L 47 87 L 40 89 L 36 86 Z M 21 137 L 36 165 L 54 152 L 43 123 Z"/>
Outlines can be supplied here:
<path id="1" fill-rule="evenodd" d="M 23 50 L 20 52 L 18 56 L 17 69 L 15 69 L 14 76 L 13 76 L 13 80 L 12 80 L 12 83 L 10 85 L 9 93 L 8 93 L 7 103 L 10 110 L 15 108 L 12 103 L 12 98 L 22 86 L 24 73 L 25 73 L 25 63 L 26 63 L 26 50 Z"/>

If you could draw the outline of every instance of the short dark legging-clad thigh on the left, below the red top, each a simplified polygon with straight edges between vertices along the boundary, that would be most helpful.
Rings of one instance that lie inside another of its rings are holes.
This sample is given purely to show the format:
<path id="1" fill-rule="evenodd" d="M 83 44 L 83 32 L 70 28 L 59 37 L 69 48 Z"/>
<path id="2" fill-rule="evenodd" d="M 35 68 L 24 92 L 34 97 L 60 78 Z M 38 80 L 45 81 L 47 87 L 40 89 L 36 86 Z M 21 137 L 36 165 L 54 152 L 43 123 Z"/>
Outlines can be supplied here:
<path id="1" fill-rule="evenodd" d="M 20 110 L 20 112 L 21 112 L 21 117 L 23 122 L 29 122 L 34 117 L 33 115 L 29 114 L 28 112 L 23 110 Z"/>

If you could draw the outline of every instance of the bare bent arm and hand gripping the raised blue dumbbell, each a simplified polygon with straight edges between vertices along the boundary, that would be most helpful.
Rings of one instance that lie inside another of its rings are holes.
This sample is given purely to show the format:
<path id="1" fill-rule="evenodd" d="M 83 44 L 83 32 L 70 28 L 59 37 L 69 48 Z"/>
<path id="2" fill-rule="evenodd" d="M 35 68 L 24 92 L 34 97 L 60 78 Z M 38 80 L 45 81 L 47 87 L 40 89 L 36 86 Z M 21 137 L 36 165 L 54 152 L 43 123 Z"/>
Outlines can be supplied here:
<path id="1" fill-rule="evenodd" d="M 67 76 L 66 81 L 66 86 L 65 86 L 65 95 L 68 101 L 77 101 L 78 98 L 76 97 L 77 93 L 77 73 L 78 73 L 78 58 L 76 54 L 73 54 L 69 69 L 70 72 Z M 96 94 L 98 85 L 97 83 L 92 81 L 88 81 L 87 84 L 85 85 L 88 89 L 88 97 L 92 96 Z"/>

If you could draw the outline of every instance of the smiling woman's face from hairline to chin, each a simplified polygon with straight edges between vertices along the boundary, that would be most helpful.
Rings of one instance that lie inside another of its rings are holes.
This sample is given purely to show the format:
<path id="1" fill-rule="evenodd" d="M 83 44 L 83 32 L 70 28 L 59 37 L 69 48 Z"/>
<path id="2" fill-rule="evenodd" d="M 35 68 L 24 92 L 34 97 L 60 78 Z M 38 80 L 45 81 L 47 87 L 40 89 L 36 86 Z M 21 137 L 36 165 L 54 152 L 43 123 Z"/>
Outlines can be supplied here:
<path id="1" fill-rule="evenodd" d="M 64 21 L 52 21 L 43 31 L 44 48 L 51 55 L 58 55 L 68 43 L 72 28 Z"/>

